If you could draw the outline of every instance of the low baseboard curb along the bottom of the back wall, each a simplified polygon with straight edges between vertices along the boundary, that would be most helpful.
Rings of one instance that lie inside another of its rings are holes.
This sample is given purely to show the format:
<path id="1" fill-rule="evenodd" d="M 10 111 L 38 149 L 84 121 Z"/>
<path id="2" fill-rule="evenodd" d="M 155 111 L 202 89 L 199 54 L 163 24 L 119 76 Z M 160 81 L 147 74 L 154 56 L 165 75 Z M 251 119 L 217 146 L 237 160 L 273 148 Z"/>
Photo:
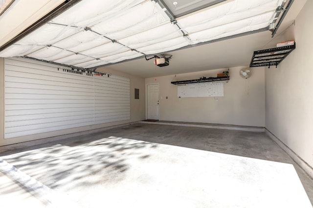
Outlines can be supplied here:
<path id="1" fill-rule="evenodd" d="M 223 126 L 223 125 L 200 125 L 200 124 L 181 124 L 181 123 L 166 123 L 166 122 L 149 122 L 149 121 L 139 121 L 139 123 L 144 124 L 158 124 L 158 125 L 168 125 L 168 126 L 183 126 L 183 127 L 198 127 L 207 129 L 224 129 L 224 130 L 236 130 L 245 132 L 264 132 L 264 128 L 260 127 L 241 127 L 241 126 Z"/>

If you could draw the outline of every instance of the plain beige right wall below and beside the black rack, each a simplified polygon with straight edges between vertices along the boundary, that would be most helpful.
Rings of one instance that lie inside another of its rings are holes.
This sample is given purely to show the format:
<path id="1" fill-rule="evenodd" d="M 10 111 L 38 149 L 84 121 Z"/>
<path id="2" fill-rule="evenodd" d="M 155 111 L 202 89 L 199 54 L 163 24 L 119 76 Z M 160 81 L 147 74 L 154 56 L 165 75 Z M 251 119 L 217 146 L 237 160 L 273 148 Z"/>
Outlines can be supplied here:
<path id="1" fill-rule="evenodd" d="M 266 128 L 313 167 L 313 1 L 295 20 L 296 49 L 266 70 Z"/>

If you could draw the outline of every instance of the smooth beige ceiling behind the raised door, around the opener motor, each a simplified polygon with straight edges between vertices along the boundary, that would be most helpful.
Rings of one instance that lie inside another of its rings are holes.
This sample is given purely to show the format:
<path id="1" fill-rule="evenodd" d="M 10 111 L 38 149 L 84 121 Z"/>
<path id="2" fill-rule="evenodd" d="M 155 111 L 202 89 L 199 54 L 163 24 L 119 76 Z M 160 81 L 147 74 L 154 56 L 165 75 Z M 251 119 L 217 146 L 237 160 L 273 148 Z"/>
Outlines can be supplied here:
<path id="1" fill-rule="evenodd" d="M 117 70 L 147 78 L 246 66 L 250 63 L 253 51 L 267 44 L 269 38 L 266 37 L 271 37 L 269 31 L 171 52 L 169 54 L 173 57 L 169 66 L 165 67 L 156 66 L 153 59 L 147 61 L 145 58 L 140 58 L 102 69 Z"/>

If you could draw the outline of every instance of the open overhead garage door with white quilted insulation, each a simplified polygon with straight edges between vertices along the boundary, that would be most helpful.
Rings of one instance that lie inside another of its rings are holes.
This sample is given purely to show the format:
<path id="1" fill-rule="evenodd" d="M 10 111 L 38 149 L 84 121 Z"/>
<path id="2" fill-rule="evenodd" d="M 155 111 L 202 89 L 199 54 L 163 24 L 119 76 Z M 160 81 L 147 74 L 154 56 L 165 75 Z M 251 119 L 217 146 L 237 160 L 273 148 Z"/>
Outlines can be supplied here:
<path id="1" fill-rule="evenodd" d="M 28 57 L 93 70 L 265 31 L 269 25 L 275 28 L 274 21 L 286 3 L 286 0 L 205 0 L 198 7 L 196 1 L 179 1 L 177 9 L 187 10 L 180 10 L 182 13 L 176 18 L 161 0 L 77 1 L 69 1 L 75 5 L 62 14 L 48 16 L 1 46 L 0 57 Z"/>

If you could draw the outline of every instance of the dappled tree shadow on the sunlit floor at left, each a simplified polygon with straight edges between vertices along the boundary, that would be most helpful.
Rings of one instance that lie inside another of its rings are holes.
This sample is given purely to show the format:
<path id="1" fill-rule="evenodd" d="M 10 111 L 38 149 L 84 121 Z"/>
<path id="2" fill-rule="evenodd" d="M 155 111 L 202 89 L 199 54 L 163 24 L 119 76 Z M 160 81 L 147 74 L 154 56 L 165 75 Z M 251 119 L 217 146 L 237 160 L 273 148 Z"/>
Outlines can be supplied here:
<path id="1" fill-rule="evenodd" d="M 37 145 L 1 158 L 47 187 L 67 192 L 124 180 L 131 168 L 129 160 L 144 160 L 150 156 L 149 149 L 156 147 L 122 137 L 99 139 L 95 134 Z"/>

